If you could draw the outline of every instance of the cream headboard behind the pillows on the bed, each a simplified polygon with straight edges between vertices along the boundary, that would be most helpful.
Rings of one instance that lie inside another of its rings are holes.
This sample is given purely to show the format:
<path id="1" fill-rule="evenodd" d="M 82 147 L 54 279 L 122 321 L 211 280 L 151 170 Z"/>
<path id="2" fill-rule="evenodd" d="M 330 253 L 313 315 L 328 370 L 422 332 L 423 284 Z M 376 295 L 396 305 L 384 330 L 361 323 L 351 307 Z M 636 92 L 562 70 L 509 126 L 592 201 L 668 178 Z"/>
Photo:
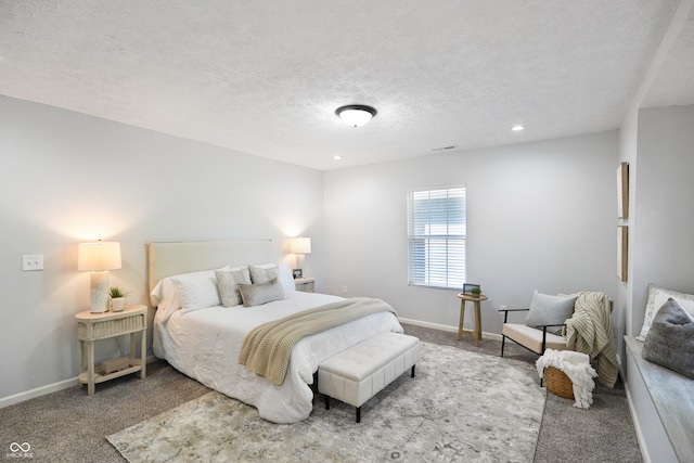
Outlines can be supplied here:
<path id="1" fill-rule="evenodd" d="M 223 266 L 271 261 L 272 240 L 181 241 L 147 244 L 150 292 L 166 276 Z"/>

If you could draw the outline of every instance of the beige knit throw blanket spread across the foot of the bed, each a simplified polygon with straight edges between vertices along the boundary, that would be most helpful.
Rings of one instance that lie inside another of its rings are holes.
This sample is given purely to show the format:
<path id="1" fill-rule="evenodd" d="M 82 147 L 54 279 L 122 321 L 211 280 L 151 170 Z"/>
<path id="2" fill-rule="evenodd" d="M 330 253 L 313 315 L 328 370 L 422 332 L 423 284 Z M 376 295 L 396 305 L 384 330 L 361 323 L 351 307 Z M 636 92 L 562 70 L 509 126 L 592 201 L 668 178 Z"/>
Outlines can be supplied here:
<path id="1" fill-rule="evenodd" d="M 393 312 L 381 299 L 354 297 L 305 310 L 256 326 L 248 333 L 239 352 L 239 363 L 268 378 L 284 383 L 292 348 L 301 338 L 376 312 Z"/>

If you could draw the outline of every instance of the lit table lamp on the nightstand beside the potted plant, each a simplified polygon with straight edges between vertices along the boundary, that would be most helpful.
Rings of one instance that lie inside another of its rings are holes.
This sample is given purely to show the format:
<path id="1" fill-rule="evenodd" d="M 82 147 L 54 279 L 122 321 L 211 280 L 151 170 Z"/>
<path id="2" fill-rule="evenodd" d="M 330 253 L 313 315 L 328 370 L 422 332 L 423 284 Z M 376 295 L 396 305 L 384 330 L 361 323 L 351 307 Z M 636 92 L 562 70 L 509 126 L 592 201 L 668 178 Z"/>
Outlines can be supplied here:
<path id="1" fill-rule="evenodd" d="M 91 273 L 89 310 L 102 313 L 108 310 L 108 270 L 120 268 L 120 243 L 80 243 L 77 270 Z"/>

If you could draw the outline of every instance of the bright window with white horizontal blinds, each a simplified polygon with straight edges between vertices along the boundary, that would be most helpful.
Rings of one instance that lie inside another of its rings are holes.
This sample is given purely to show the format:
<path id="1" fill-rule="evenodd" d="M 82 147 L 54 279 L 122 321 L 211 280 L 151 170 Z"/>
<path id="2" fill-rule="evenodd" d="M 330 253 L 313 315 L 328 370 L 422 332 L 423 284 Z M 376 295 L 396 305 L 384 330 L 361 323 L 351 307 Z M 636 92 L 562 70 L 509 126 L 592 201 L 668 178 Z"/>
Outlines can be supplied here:
<path id="1" fill-rule="evenodd" d="M 466 234 L 465 187 L 410 192 L 410 284 L 462 288 Z"/>

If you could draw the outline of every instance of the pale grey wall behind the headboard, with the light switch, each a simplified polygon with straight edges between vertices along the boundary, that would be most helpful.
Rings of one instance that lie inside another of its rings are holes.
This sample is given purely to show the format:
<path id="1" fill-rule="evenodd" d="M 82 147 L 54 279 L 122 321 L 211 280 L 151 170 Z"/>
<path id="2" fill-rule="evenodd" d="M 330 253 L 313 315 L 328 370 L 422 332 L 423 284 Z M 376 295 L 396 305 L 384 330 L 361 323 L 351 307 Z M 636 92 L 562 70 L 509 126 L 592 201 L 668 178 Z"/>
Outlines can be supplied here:
<path id="1" fill-rule="evenodd" d="M 4 97 L 0 156 L 0 399 L 77 376 L 79 242 L 121 243 L 111 282 L 129 303 L 147 303 L 151 241 L 273 239 L 280 260 L 303 234 L 307 271 L 322 273 L 320 171 Z M 24 254 L 44 270 L 22 272 Z"/>

